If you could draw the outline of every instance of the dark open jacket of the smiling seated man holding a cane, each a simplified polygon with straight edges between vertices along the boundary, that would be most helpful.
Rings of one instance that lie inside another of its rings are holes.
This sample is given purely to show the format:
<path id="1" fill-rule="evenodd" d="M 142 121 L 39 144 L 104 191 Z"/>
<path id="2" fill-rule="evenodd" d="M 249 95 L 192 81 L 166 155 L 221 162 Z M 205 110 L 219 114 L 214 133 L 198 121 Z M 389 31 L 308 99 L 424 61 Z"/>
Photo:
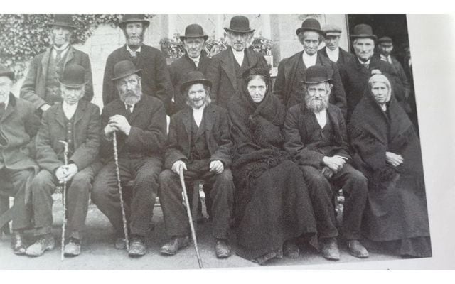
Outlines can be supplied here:
<path id="1" fill-rule="evenodd" d="M 205 107 L 203 119 L 210 160 L 220 160 L 225 167 L 229 167 L 232 163 L 230 158 L 232 141 L 227 111 L 209 104 Z M 171 169 L 177 160 L 187 160 L 190 157 L 192 120 L 193 113 L 188 106 L 171 117 L 164 161 L 166 168 Z"/>

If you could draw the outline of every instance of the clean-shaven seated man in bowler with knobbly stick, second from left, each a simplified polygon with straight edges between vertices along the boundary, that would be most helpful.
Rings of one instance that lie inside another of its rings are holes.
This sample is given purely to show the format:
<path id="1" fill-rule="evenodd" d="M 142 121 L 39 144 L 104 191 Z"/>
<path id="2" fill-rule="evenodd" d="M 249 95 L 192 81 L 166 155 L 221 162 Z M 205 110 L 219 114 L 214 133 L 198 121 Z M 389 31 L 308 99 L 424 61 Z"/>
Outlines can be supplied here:
<path id="1" fill-rule="evenodd" d="M 36 162 L 41 171 L 33 180 L 33 212 L 38 239 L 28 247 L 28 256 L 41 256 L 53 249 L 52 194 L 56 185 L 68 182 L 68 243 L 66 256 L 80 254 L 81 233 L 87 217 L 90 187 L 97 172 L 100 148 L 100 109 L 84 97 L 87 80 L 84 67 L 70 65 L 60 79 L 63 102 L 54 104 L 43 113 L 41 128 L 36 136 Z M 65 165 L 62 143 L 68 143 L 68 164 Z"/>

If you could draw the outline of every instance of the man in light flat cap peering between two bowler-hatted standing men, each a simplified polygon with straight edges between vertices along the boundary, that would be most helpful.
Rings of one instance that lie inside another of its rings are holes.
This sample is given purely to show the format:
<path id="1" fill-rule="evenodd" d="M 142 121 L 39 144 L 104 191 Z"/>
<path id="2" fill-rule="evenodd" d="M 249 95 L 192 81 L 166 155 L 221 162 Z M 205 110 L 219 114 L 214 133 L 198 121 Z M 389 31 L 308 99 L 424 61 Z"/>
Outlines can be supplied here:
<path id="1" fill-rule="evenodd" d="M 335 62 L 338 69 L 341 65 L 354 58 L 354 55 L 340 48 L 341 28 L 336 25 L 326 25 L 322 28 L 324 32 L 324 46 L 318 53 Z"/>

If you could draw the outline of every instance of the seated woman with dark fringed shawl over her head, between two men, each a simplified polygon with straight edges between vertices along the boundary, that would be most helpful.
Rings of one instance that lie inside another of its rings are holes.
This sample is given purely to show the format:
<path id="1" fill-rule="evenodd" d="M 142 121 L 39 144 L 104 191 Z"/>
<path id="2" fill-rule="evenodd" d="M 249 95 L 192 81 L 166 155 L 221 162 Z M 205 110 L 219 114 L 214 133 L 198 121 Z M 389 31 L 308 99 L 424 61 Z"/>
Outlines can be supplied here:
<path id="1" fill-rule="evenodd" d="M 267 70 L 244 77 L 228 104 L 237 254 L 259 264 L 283 253 L 297 258 L 297 239 L 314 241 L 316 225 L 301 170 L 282 151 L 285 109 L 270 92 Z"/>

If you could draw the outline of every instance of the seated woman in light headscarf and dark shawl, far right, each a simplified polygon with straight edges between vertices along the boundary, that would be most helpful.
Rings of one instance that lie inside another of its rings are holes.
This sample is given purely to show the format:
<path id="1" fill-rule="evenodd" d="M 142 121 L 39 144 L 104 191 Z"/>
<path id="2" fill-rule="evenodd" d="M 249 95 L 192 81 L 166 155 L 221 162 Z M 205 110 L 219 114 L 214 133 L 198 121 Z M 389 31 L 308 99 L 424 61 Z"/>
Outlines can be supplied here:
<path id="1" fill-rule="evenodd" d="M 400 256 L 431 256 L 419 138 L 385 75 L 368 80 L 349 132 L 355 163 L 368 178 L 363 235 Z"/>

